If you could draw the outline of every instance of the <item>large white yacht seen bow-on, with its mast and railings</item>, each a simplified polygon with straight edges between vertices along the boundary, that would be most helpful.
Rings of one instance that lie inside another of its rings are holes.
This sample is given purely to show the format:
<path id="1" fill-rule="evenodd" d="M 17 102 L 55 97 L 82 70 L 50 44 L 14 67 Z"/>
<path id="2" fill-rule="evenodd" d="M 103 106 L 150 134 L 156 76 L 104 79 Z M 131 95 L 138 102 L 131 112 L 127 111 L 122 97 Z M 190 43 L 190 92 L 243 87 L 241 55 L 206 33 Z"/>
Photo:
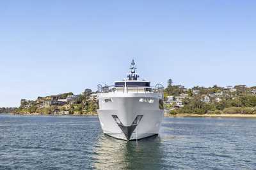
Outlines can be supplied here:
<path id="1" fill-rule="evenodd" d="M 138 80 L 134 60 L 131 72 L 115 85 L 98 85 L 97 113 L 104 134 L 127 141 L 158 134 L 163 120 L 163 85 L 151 87 Z"/>

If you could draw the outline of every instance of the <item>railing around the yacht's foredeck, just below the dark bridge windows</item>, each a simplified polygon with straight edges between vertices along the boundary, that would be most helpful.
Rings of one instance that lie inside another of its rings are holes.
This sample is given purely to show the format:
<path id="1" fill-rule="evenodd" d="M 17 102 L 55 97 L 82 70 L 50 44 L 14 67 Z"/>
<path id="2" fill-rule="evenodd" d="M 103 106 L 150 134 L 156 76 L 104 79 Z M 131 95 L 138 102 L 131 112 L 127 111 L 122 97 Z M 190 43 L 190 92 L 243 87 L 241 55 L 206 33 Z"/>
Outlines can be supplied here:
<path id="1" fill-rule="evenodd" d="M 161 84 L 157 84 L 155 87 L 141 87 L 141 86 L 124 86 L 115 87 L 114 85 L 98 85 L 98 93 L 109 93 L 109 92 L 123 92 L 123 93 L 163 93 L 164 87 Z"/>

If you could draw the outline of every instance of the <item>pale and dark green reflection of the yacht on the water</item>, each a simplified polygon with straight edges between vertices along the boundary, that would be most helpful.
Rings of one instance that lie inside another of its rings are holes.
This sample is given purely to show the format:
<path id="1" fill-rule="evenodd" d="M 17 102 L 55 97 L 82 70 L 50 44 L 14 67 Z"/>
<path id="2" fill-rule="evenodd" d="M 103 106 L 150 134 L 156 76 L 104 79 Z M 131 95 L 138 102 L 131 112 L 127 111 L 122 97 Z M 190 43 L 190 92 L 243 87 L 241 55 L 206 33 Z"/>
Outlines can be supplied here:
<path id="1" fill-rule="evenodd" d="M 94 147 L 93 169 L 161 169 L 163 150 L 159 136 L 136 141 L 116 140 L 102 135 Z"/>

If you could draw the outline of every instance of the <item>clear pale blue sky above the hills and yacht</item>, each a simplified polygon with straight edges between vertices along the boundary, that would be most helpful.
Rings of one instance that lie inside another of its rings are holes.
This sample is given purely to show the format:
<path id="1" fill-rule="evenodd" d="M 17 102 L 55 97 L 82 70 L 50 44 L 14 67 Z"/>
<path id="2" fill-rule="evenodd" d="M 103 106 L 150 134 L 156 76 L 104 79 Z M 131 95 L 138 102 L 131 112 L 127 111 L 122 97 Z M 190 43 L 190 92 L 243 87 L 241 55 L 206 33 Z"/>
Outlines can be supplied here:
<path id="1" fill-rule="evenodd" d="M 256 1 L 0 1 L 0 107 L 122 80 L 256 85 Z"/>

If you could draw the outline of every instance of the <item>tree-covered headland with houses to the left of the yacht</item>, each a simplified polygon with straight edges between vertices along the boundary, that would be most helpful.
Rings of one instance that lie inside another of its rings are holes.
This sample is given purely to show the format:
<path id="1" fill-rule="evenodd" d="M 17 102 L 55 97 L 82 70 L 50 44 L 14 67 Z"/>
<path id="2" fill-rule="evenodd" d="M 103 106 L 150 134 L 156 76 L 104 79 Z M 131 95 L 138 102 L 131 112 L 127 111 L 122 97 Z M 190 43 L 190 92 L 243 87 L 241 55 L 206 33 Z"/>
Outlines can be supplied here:
<path id="1" fill-rule="evenodd" d="M 75 96 L 71 101 L 67 100 L 67 97 L 74 96 L 72 92 L 59 94 L 57 96 L 38 97 L 36 101 L 22 99 L 20 101 L 20 107 L 15 110 L 15 113 L 36 113 L 42 115 L 95 114 L 97 100 L 95 97 L 91 96 L 92 93 L 91 89 L 85 89 L 83 95 Z"/>

